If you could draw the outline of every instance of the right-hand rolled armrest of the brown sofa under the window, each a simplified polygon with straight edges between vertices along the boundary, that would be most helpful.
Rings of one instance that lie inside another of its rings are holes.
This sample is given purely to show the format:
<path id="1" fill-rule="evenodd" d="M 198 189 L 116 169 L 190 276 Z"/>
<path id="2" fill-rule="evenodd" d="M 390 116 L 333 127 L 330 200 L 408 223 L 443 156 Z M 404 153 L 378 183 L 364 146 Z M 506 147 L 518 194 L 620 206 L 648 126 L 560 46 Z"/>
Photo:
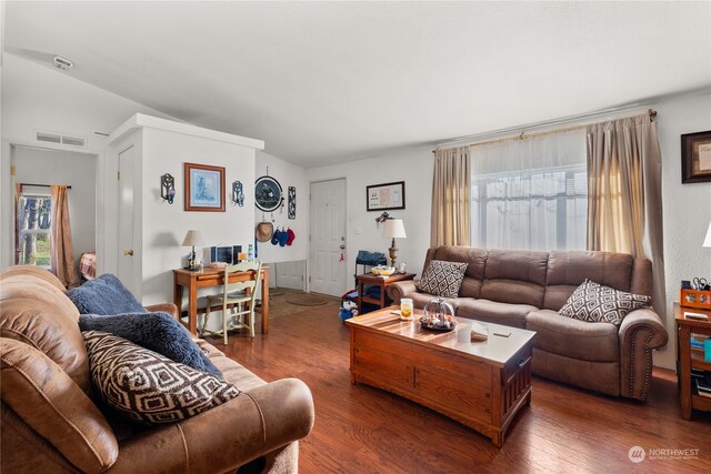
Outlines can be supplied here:
<path id="1" fill-rule="evenodd" d="M 659 315 L 644 307 L 632 311 L 620 324 L 620 394 L 645 400 L 652 376 L 652 350 L 669 341 Z"/>

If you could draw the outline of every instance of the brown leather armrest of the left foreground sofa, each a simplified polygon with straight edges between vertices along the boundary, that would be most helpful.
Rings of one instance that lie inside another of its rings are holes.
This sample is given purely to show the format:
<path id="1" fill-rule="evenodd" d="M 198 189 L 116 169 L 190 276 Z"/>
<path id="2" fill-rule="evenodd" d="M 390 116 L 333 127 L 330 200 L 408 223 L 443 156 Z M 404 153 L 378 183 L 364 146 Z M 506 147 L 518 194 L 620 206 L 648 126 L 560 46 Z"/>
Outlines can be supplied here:
<path id="1" fill-rule="evenodd" d="M 183 422 L 138 434 L 121 444 L 108 472 L 234 472 L 307 436 L 313 420 L 309 387 L 300 380 L 283 379 Z"/>

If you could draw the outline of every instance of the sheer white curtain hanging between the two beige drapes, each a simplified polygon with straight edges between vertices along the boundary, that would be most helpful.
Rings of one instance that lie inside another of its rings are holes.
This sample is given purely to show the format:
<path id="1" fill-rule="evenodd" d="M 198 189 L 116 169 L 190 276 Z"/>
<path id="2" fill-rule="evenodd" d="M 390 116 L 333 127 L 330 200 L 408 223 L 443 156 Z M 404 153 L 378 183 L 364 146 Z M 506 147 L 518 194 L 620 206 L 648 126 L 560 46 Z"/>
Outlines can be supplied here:
<path id="1" fill-rule="evenodd" d="M 585 249 L 585 130 L 471 147 L 472 245 Z"/>

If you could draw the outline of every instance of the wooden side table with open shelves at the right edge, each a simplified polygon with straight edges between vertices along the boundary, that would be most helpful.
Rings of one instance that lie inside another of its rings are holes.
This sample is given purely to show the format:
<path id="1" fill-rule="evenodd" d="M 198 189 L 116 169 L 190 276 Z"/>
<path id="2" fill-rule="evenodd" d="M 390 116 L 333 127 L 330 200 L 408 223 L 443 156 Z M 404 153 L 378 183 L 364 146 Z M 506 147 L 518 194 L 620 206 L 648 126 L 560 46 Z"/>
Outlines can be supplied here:
<path id="1" fill-rule="evenodd" d="M 690 320 L 684 317 L 684 312 L 705 314 L 709 321 Z M 674 320 L 677 321 L 681 416 L 684 420 L 691 420 L 691 409 L 711 412 L 711 399 L 695 394 L 691 386 L 692 369 L 711 372 L 711 362 L 704 362 L 703 350 L 691 347 L 692 333 L 711 335 L 711 311 L 682 307 L 679 303 L 674 303 Z"/>

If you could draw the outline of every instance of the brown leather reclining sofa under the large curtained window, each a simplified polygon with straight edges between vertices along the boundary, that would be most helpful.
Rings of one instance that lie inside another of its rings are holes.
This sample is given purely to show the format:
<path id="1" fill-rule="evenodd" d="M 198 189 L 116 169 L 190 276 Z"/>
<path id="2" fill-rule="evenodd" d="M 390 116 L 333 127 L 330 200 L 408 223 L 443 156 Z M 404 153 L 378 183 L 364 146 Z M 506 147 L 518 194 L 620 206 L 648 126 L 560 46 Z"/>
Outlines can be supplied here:
<path id="1" fill-rule="evenodd" d="M 629 254 L 584 251 L 509 251 L 440 246 L 431 260 L 469 263 L 459 297 L 449 299 L 458 316 L 535 331 L 534 374 L 614 396 L 645 400 L 652 350 L 668 334 L 652 309 L 631 312 L 619 326 L 561 316 L 558 311 L 585 279 L 620 291 L 651 295 L 652 266 Z M 414 281 L 388 286 L 423 307 L 433 295 Z"/>

